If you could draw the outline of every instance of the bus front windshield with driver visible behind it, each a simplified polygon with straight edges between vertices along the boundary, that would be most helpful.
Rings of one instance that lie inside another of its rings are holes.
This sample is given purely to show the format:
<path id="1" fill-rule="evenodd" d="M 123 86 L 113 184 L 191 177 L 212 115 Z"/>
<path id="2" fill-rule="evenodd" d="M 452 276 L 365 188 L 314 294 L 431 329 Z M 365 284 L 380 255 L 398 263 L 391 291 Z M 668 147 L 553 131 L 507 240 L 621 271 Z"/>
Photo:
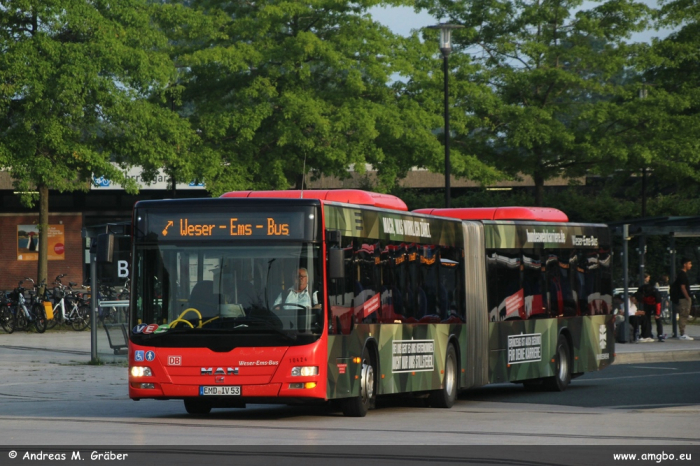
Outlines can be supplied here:
<path id="1" fill-rule="evenodd" d="M 320 245 L 137 245 L 134 335 L 321 334 Z M 264 339 L 264 337 L 262 337 Z"/>

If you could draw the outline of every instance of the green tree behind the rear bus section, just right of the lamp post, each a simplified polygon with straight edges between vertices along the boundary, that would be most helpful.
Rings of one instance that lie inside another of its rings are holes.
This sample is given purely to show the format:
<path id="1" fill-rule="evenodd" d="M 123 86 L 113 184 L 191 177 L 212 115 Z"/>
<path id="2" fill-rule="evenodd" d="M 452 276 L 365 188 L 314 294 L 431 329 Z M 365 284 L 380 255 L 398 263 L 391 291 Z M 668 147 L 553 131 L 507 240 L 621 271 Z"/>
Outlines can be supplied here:
<path id="1" fill-rule="evenodd" d="M 580 0 L 421 0 L 436 17 L 466 26 L 457 52 L 478 68 L 460 79 L 479 85 L 458 97 L 464 130 L 455 144 L 510 176 L 533 177 L 542 205 L 546 180 L 596 169 L 601 153 L 587 138 L 591 109 L 620 92 L 648 8 L 630 0 L 584 9 Z M 455 113 L 458 113 L 455 111 Z M 457 117 L 455 117 L 457 118 Z"/>

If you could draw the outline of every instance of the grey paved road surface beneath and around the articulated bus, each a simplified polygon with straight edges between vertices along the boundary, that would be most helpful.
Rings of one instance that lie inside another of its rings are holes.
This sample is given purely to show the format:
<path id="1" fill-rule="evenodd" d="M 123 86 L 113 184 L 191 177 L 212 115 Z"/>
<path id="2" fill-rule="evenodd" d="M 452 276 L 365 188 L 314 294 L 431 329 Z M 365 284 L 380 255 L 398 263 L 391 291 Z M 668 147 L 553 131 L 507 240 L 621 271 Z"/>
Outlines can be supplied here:
<path id="1" fill-rule="evenodd" d="M 89 349 L 87 333 L 0 334 L 0 444 L 700 444 L 700 363 L 680 361 L 700 338 L 619 345 L 618 363 L 564 393 L 495 385 L 450 410 L 387 400 L 363 419 L 279 405 L 189 417 L 181 401 L 129 400 L 126 365 L 88 365 Z"/>

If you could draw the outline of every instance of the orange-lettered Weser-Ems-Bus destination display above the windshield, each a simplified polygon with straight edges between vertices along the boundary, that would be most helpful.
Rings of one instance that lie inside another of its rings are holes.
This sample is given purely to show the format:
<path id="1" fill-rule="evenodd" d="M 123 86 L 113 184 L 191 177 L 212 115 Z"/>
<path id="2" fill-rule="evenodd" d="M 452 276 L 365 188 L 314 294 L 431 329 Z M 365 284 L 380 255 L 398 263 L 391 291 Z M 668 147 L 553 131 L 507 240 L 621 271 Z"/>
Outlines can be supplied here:
<path id="1" fill-rule="evenodd" d="M 149 237 L 158 240 L 303 239 L 303 212 L 151 213 Z"/>

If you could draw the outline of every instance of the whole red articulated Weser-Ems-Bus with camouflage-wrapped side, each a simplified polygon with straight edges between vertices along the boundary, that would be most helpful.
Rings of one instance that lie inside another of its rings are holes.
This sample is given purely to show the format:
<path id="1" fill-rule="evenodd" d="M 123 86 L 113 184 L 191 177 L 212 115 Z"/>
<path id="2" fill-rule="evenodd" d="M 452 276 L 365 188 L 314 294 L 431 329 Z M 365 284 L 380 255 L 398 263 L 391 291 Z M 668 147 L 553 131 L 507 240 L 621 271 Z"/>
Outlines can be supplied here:
<path id="1" fill-rule="evenodd" d="M 129 396 L 191 414 L 460 390 L 563 390 L 611 364 L 610 235 L 555 209 L 408 212 L 359 190 L 143 201 Z"/>

